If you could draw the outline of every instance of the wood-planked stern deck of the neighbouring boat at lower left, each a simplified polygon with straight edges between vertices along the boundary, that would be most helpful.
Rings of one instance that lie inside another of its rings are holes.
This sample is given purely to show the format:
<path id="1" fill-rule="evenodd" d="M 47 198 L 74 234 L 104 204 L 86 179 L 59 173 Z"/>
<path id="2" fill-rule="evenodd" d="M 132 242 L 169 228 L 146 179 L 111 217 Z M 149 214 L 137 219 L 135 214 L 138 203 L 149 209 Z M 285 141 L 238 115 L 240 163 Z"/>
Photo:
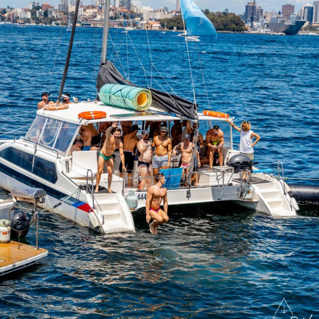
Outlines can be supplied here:
<path id="1" fill-rule="evenodd" d="M 44 248 L 11 241 L 0 243 L 0 275 L 15 271 L 39 262 L 48 255 Z"/>

